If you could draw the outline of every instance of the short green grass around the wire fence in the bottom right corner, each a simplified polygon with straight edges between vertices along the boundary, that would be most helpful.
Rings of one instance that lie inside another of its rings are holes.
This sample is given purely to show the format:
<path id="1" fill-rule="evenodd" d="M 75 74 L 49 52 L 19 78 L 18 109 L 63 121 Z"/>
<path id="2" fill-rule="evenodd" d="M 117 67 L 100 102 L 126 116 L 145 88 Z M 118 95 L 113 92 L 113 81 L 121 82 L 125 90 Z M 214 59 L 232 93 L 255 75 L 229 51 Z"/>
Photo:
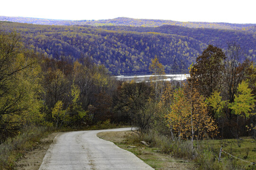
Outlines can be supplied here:
<path id="1" fill-rule="evenodd" d="M 238 144 L 239 142 L 239 144 Z M 219 150 L 230 153 L 221 153 L 219 162 Z M 198 148 L 198 157 L 196 161 L 200 164 L 201 169 L 220 169 L 220 170 L 256 170 L 256 165 L 250 162 L 256 162 L 256 141 L 252 137 L 241 137 L 240 139 L 224 140 L 202 140 L 194 142 L 194 147 Z M 210 165 L 215 165 L 211 167 Z"/>

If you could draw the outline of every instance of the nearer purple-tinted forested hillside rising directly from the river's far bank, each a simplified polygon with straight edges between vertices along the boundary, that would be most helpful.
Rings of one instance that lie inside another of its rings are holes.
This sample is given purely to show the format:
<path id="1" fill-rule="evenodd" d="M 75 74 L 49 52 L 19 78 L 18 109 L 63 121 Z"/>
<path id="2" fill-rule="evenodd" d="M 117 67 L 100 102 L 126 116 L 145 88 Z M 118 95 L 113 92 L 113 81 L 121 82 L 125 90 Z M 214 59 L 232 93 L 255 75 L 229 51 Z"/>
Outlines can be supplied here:
<path id="1" fill-rule="evenodd" d="M 159 56 L 167 72 L 187 70 L 205 43 L 175 34 L 103 30 L 91 26 L 39 26 L 2 23 L 16 30 L 23 42 L 46 56 L 88 56 L 115 74 L 149 72 L 151 59 Z"/>

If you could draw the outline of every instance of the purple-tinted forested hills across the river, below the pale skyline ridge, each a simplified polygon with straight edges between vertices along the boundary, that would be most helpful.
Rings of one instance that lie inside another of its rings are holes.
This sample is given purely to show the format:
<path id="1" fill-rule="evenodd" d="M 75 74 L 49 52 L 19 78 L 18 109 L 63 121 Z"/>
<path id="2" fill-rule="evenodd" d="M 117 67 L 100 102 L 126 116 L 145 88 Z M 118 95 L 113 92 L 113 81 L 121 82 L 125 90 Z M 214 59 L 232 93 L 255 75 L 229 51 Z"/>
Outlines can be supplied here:
<path id="1" fill-rule="evenodd" d="M 227 49 L 227 42 L 241 44 L 247 58 L 256 58 L 255 34 L 246 31 L 188 28 L 183 26 L 40 26 L 2 22 L 15 30 L 32 50 L 46 57 L 72 60 L 89 57 L 104 64 L 113 75 L 146 74 L 155 56 L 167 73 L 187 73 L 196 57 L 213 44 Z"/>

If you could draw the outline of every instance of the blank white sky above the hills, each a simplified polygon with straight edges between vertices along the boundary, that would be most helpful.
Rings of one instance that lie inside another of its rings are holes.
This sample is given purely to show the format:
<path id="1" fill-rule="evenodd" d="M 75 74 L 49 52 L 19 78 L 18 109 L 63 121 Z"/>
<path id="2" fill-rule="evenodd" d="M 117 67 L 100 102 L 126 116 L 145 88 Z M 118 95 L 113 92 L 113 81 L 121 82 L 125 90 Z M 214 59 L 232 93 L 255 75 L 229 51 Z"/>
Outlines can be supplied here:
<path id="1" fill-rule="evenodd" d="M 0 16 L 256 24 L 256 0 L 1 0 Z"/>

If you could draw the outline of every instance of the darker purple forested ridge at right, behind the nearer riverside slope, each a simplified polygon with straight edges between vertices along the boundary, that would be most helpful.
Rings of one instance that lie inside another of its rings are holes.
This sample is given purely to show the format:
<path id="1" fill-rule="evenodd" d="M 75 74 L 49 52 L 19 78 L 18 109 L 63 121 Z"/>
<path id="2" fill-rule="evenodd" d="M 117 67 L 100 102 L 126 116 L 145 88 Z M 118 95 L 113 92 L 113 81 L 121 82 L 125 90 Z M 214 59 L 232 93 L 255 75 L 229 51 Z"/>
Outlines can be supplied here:
<path id="1" fill-rule="evenodd" d="M 214 44 L 220 48 L 227 49 L 227 42 L 238 42 L 252 58 L 256 57 L 255 34 L 237 31 L 211 28 L 188 28 L 183 26 L 157 26 L 157 27 L 133 27 L 133 26 L 102 26 L 107 30 L 123 30 L 147 33 L 177 34 L 192 37 L 206 44 Z"/>

